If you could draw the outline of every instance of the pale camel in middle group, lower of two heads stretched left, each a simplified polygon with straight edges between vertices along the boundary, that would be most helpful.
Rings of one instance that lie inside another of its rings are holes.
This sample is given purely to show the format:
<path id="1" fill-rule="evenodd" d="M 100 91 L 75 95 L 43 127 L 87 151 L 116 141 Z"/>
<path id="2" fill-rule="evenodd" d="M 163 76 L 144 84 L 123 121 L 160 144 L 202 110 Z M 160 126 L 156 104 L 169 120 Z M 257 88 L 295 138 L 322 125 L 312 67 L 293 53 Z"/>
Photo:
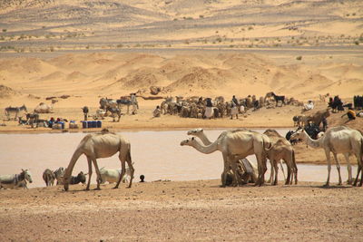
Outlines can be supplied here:
<path id="1" fill-rule="evenodd" d="M 265 149 L 270 147 L 270 140 L 258 132 L 235 130 L 224 131 L 220 137 L 208 146 L 202 145 L 198 140 L 192 137 L 189 140 L 182 140 L 181 145 L 189 145 L 204 154 L 210 154 L 216 150 L 220 150 L 223 156 L 224 170 L 222 173 L 222 187 L 226 186 L 227 172 L 230 168 L 233 171 L 233 186 L 237 186 L 240 178 L 237 177 L 237 162 L 246 158 L 251 154 L 256 155 L 259 177 L 255 185 L 264 184 L 264 175 L 266 173 L 266 153 Z"/>

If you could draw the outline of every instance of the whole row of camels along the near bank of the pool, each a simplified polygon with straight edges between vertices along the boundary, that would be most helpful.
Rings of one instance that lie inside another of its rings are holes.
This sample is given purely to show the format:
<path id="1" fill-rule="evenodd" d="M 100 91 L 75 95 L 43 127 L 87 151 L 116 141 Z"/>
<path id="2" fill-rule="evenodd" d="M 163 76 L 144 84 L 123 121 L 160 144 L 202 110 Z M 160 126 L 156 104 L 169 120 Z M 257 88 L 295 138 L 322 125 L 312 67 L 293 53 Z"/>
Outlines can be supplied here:
<path id="1" fill-rule="evenodd" d="M 277 131 L 268 130 L 264 133 L 250 131 L 246 129 L 223 131 L 217 140 L 211 141 L 205 135 L 202 129 L 188 131 L 188 135 L 192 137 L 188 140 L 182 140 L 182 146 L 191 146 L 195 150 L 204 154 L 210 154 L 216 150 L 221 151 L 224 169 L 221 174 L 221 186 L 226 186 L 228 174 L 232 174 L 232 186 L 238 186 L 242 183 L 240 176 L 237 176 L 238 160 L 244 159 L 249 155 L 255 155 L 257 158 L 258 176 L 255 180 L 256 186 L 261 186 L 265 183 L 265 172 L 267 171 L 267 159 L 271 162 L 271 177 L 275 170 L 275 178 L 272 179 L 272 184 L 277 184 L 278 162 L 284 160 L 288 167 L 288 178 L 286 184 L 291 184 L 295 178 L 295 183 L 298 182 L 298 168 L 295 162 L 295 153 L 289 141 L 281 137 Z M 200 139 L 197 140 L 196 138 Z M 337 154 L 344 154 L 348 163 L 348 184 L 353 183 L 349 155 L 355 155 L 358 161 L 357 178 L 354 180 L 354 186 L 357 185 L 358 176 L 362 171 L 363 164 L 363 135 L 360 131 L 350 129 L 346 126 L 338 126 L 329 128 L 324 135 L 318 140 L 312 140 L 303 129 L 298 129 L 291 135 L 291 139 L 305 140 L 306 143 L 317 149 L 325 151 L 328 162 L 328 179 L 324 186 L 329 186 L 330 179 L 330 152 L 333 153 L 334 159 L 337 162 L 338 169 L 338 185 L 342 184 L 340 176 L 340 166 Z M 122 165 L 122 173 L 120 179 L 116 183 L 114 189 L 119 187 L 121 178 L 125 174 L 125 163 L 127 162 L 131 170 L 131 179 L 128 188 L 132 187 L 132 179 L 134 168 L 131 158 L 130 141 L 123 138 L 122 135 L 113 133 L 104 129 L 101 132 L 91 133 L 86 135 L 74 151 L 72 159 L 64 173 L 64 190 L 69 189 L 69 179 L 74 169 L 74 164 L 81 155 L 85 155 L 88 161 L 89 179 L 86 189 L 90 189 L 90 181 L 93 173 L 92 163 L 97 174 L 97 188 L 100 189 L 101 174 L 98 169 L 97 159 L 107 158 L 119 152 L 119 160 Z M 362 186 L 363 171 L 359 186 Z"/>

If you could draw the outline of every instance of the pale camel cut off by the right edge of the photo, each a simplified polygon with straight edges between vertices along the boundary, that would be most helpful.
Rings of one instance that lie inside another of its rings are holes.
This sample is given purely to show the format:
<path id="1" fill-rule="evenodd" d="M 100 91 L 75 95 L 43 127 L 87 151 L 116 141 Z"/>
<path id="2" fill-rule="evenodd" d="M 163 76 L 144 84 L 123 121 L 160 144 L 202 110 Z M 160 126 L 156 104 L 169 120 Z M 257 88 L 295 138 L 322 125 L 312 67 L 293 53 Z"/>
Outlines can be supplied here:
<path id="1" fill-rule="evenodd" d="M 302 139 L 307 142 L 310 147 L 313 148 L 322 148 L 325 150 L 325 155 L 327 157 L 328 162 L 328 179 L 324 186 L 329 186 L 330 179 L 330 152 L 333 153 L 334 159 L 337 162 L 338 176 L 339 182 L 338 185 L 341 185 L 341 177 L 340 177 L 340 164 L 337 158 L 337 154 L 343 153 L 345 159 L 347 160 L 347 169 L 348 169 L 348 184 L 352 182 L 352 174 L 351 174 L 351 166 L 349 162 L 349 154 L 354 154 L 358 160 L 358 172 L 362 168 L 362 155 L 363 155 L 363 135 L 356 130 L 350 129 L 346 126 L 338 126 L 328 129 L 322 137 L 318 140 L 312 140 L 308 133 L 302 129 L 296 131 L 291 135 L 291 139 Z M 355 184 L 357 184 L 357 179 L 355 180 Z M 363 173 L 362 173 L 363 179 Z M 362 179 L 360 180 L 359 186 L 362 185 Z"/>

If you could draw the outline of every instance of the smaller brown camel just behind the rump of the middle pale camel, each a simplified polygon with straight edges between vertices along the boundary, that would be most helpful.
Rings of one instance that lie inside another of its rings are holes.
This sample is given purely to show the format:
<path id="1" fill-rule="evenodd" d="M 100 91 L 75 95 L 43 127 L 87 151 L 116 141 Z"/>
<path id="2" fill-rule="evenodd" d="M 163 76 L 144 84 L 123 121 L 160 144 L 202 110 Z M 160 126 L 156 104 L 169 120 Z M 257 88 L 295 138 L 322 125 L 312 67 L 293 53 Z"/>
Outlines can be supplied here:
<path id="1" fill-rule="evenodd" d="M 295 184 L 298 184 L 298 167 L 296 166 L 295 160 L 295 151 L 292 148 L 292 145 L 288 140 L 283 138 L 278 131 L 275 130 L 266 130 L 263 134 L 269 136 L 272 146 L 269 150 L 267 150 L 267 157 L 271 163 L 271 173 L 270 173 L 270 181 L 272 185 L 278 184 L 278 162 L 280 160 L 280 167 L 282 169 L 282 173 L 285 173 L 282 167 L 281 160 L 284 160 L 286 166 L 288 167 L 288 178 L 285 179 L 285 185 L 292 184 L 292 180 L 295 177 Z M 273 179 L 273 175 L 275 173 L 275 179 Z"/>

